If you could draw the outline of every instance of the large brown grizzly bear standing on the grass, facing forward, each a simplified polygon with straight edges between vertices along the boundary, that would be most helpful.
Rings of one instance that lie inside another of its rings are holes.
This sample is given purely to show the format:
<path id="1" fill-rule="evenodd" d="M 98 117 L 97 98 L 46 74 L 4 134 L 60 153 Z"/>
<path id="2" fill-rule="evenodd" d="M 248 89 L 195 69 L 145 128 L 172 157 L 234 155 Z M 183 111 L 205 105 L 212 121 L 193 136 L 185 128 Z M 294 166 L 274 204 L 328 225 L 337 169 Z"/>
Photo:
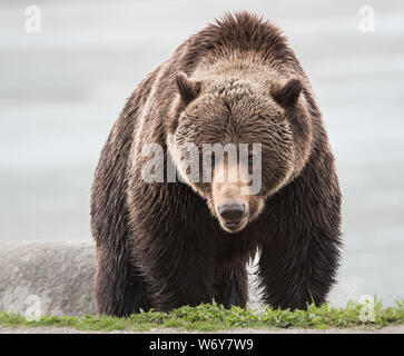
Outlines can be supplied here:
<path id="1" fill-rule="evenodd" d="M 211 180 L 189 179 L 178 155 L 187 142 L 199 152 L 244 144 L 248 160 L 215 151 Z M 150 145 L 161 147 L 150 174 L 162 179 L 145 179 Z M 249 191 L 242 174 L 227 178 L 242 165 L 249 174 L 254 157 L 260 187 Z M 102 149 L 91 190 L 98 313 L 245 307 L 256 254 L 267 305 L 321 305 L 339 264 L 339 226 L 334 157 L 304 69 L 277 27 L 227 13 L 140 82 Z"/>

